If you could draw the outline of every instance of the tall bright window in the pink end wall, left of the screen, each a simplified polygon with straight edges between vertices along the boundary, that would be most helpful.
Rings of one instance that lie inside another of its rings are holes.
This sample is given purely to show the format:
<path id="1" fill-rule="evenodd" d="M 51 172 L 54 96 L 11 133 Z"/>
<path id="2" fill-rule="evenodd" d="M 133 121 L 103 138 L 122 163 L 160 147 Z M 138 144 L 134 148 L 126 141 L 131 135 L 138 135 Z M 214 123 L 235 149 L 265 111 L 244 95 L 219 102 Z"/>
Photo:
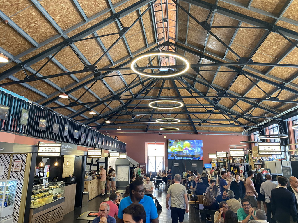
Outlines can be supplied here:
<path id="1" fill-rule="evenodd" d="M 164 144 L 147 144 L 148 172 L 164 170 Z"/>

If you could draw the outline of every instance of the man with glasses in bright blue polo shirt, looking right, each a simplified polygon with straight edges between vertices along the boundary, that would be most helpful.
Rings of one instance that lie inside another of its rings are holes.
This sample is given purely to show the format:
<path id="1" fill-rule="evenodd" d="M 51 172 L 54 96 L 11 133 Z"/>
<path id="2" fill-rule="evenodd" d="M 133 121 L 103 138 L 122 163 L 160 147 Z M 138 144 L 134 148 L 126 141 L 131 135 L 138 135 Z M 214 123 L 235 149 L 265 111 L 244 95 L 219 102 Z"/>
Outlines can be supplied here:
<path id="1" fill-rule="evenodd" d="M 117 223 L 123 223 L 123 209 L 131 205 L 132 203 L 141 204 L 144 206 L 146 212 L 146 222 L 144 223 L 159 223 L 156 206 L 153 199 L 145 195 L 145 188 L 143 181 L 136 179 L 129 184 L 129 197 L 125 197 L 119 204 L 119 212 Z"/>

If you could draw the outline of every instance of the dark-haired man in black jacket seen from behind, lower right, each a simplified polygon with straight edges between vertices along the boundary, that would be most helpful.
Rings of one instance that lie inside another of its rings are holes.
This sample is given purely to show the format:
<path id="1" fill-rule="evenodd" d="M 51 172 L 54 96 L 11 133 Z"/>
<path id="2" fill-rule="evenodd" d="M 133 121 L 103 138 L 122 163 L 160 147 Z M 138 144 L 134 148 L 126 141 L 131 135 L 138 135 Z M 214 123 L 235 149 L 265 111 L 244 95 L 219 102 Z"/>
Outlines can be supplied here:
<path id="1" fill-rule="evenodd" d="M 277 223 L 297 222 L 295 195 L 287 190 L 288 180 L 284 176 L 278 178 L 279 188 L 271 191 L 271 208 L 273 219 Z"/>

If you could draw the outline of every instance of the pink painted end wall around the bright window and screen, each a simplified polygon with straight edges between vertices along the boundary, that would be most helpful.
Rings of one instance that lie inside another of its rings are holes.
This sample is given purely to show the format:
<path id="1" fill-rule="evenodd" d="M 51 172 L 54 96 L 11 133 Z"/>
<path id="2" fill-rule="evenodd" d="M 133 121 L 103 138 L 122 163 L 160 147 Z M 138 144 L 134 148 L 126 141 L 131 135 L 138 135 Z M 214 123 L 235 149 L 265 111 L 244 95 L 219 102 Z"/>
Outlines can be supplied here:
<path id="1" fill-rule="evenodd" d="M 215 153 L 217 151 L 228 151 L 229 145 L 239 144 L 240 141 L 249 140 L 249 136 L 227 136 L 227 135 L 201 135 L 201 134 L 156 134 L 146 133 L 110 133 L 111 136 L 117 136 L 118 139 L 126 143 L 126 153 L 139 163 L 146 163 L 147 157 L 145 154 L 146 142 L 164 142 L 165 156 L 167 156 L 167 140 L 168 139 L 197 139 L 203 140 L 203 159 L 204 163 L 210 163 L 211 159 L 208 153 Z M 164 136 L 167 136 L 165 139 Z M 165 160 L 167 167 L 167 159 Z"/>

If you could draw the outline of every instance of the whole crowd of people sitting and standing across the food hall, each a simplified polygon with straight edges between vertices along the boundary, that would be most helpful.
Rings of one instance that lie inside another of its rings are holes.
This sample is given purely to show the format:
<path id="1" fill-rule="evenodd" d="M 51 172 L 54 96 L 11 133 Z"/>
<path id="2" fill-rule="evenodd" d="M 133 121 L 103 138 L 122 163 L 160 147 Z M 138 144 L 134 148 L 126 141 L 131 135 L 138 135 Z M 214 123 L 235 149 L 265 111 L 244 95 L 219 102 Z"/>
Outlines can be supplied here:
<path id="1" fill-rule="evenodd" d="M 181 183 L 181 175 L 173 178 L 173 183 L 167 190 L 165 207 L 171 211 L 172 222 L 183 222 L 184 214 L 188 213 L 188 194 L 203 195 L 204 209 L 213 211 L 207 214 L 207 222 L 215 223 L 292 223 L 297 222 L 298 212 L 298 179 L 294 176 L 288 180 L 284 176 L 278 177 L 278 185 L 272 182 L 272 176 L 263 175 L 254 171 L 247 172 L 245 183 L 236 173 L 237 167 L 231 172 L 226 167 L 212 168 L 210 173 L 203 169 L 200 174 L 196 170 L 185 171 L 185 185 Z M 138 171 L 138 169 L 136 170 Z M 220 171 L 220 173 L 219 173 Z M 157 172 L 157 176 L 167 177 L 168 172 Z M 212 176 L 216 180 L 212 180 Z M 109 168 L 107 179 L 115 177 L 113 167 Z M 112 193 L 109 200 L 100 204 L 98 217 L 92 223 L 122 223 L 146 222 L 158 223 L 158 213 L 153 201 L 153 178 L 150 172 L 144 178 L 138 173 L 133 176 L 132 182 L 126 188 L 125 194 L 114 193 L 116 188 L 111 181 Z M 210 178 L 210 183 L 208 182 Z M 202 179 L 203 178 L 203 179 Z M 206 178 L 206 181 L 204 179 Z M 155 178 L 156 179 L 156 178 Z M 264 210 L 261 210 L 262 203 Z M 271 217 L 272 216 L 272 217 Z M 214 219 L 212 219 L 214 218 Z"/>

